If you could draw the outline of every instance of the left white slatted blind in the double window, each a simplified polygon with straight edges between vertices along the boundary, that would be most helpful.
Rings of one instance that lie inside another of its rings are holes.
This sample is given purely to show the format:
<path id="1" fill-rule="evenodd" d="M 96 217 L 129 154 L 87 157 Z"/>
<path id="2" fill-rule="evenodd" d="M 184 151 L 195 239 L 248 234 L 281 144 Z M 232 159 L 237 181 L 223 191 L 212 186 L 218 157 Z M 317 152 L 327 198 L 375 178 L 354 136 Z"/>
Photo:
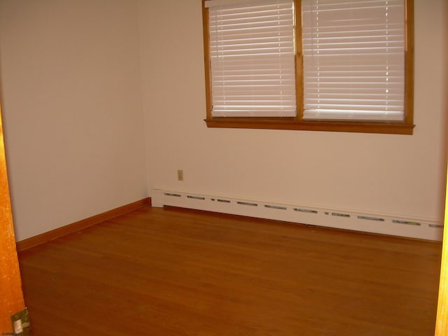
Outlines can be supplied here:
<path id="1" fill-rule="evenodd" d="M 293 0 L 209 0 L 214 117 L 295 116 Z"/>

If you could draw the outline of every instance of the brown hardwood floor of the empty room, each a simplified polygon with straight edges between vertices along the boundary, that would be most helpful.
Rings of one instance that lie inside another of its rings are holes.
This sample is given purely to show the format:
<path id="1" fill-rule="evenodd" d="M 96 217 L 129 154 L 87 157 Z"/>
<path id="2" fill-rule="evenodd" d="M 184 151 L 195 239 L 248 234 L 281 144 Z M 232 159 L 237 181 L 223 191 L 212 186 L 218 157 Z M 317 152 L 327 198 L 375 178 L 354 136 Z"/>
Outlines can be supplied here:
<path id="1" fill-rule="evenodd" d="M 434 335 L 441 244 L 144 207 L 19 254 L 34 336 Z"/>

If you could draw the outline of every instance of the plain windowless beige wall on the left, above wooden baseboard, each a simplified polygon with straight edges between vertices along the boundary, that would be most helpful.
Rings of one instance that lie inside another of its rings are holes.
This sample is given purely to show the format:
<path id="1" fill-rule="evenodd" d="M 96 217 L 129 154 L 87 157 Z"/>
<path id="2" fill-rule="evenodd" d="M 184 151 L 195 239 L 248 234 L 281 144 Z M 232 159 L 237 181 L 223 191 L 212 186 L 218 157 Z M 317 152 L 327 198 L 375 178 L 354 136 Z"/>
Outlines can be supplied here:
<path id="1" fill-rule="evenodd" d="M 148 196 L 137 2 L 0 0 L 16 239 Z"/>

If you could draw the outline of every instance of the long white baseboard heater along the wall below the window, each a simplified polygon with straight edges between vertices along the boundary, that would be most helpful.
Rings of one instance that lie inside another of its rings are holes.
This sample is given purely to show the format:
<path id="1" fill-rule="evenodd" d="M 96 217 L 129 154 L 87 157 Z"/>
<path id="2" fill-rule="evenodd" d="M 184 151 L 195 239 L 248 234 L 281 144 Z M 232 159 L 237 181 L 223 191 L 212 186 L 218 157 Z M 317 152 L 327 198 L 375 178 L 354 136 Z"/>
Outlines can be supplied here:
<path id="1" fill-rule="evenodd" d="M 442 241 L 443 234 L 442 221 L 391 214 L 365 214 L 341 209 L 244 200 L 158 188 L 152 190 L 151 201 L 153 207 L 167 205 L 417 239 Z"/>

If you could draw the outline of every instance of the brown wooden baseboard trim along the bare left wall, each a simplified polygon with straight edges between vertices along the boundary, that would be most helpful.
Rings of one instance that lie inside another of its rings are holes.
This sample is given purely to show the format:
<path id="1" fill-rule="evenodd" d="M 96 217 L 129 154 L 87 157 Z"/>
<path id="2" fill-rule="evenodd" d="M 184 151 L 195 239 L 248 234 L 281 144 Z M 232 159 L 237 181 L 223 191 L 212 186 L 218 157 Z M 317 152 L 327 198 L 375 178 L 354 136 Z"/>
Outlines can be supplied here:
<path id="1" fill-rule="evenodd" d="M 104 221 L 109 221 L 112 218 L 127 214 L 128 212 L 138 210 L 142 207 L 146 207 L 151 205 L 151 197 L 144 198 L 143 200 L 139 200 L 137 202 L 132 202 L 130 204 L 123 205 L 123 207 L 118 207 L 116 209 L 112 209 L 102 214 L 98 214 L 89 218 L 85 218 L 81 221 L 71 223 L 69 225 L 64 225 L 61 228 L 57 228 L 55 230 L 51 230 L 48 232 L 43 232 L 41 235 L 37 235 L 34 237 L 30 237 L 16 243 L 17 251 L 25 251 L 27 248 L 31 248 L 33 246 L 37 246 L 47 241 L 69 235 L 73 232 L 77 232 L 79 230 L 83 230 L 92 225 L 96 225 L 102 223 Z"/>

